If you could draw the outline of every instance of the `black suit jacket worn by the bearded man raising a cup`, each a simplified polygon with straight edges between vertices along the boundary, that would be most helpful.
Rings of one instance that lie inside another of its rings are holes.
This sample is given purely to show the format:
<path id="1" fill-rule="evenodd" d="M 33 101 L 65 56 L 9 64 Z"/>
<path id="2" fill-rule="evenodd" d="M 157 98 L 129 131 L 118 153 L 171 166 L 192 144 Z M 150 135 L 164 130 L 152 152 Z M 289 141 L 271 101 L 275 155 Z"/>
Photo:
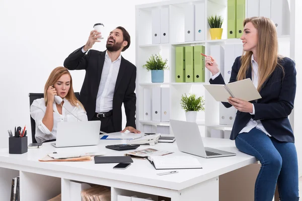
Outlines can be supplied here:
<path id="1" fill-rule="evenodd" d="M 72 52 L 64 61 L 69 70 L 86 70 L 84 83 L 80 92 L 80 101 L 91 120 L 96 111 L 96 100 L 101 81 L 106 51 L 89 50 L 88 54 L 79 48 Z M 116 79 L 113 95 L 113 125 L 115 132 L 122 130 L 122 103 L 124 103 L 127 123 L 135 126 L 136 95 L 135 90 L 136 67 L 121 57 L 121 64 Z"/>

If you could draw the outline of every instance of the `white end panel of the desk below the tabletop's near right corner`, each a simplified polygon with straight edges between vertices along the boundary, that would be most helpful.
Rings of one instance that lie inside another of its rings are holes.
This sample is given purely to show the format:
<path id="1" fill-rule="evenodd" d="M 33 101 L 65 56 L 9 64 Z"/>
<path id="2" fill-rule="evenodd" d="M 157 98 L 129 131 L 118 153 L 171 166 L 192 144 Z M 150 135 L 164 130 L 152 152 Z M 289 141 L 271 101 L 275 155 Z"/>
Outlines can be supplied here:
<path id="1" fill-rule="evenodd" d="M 218 177 L 206 180 L 191 187 L 178 191 L 171 201 L 218 201 L 219 200 L 219 180 Z"/>

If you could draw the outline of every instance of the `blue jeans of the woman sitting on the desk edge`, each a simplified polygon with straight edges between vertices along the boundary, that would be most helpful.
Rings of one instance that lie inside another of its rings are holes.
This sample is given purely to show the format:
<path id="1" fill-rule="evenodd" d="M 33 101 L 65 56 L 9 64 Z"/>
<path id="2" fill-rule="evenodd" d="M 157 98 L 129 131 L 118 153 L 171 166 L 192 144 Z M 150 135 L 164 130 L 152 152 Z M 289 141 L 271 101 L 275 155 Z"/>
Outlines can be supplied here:
<path id="1" fill-rule="evenodd" d="M 299 200 L 298 161 L 294 143 L 279 142 L 253 128 L 235 139 L 236 147 L 261 162 L 255 183 L 255 201 L 272 201 L 276 183 L 281 201 Z"/>

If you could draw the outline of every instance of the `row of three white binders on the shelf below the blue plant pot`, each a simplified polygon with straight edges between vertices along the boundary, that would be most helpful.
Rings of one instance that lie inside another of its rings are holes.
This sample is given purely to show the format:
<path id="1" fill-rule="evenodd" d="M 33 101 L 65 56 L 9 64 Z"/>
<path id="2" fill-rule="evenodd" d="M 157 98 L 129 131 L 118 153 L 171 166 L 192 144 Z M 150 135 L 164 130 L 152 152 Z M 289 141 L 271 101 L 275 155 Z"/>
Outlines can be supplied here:
<path id="1" fill-rule="evenodd" d="M 143 120 L 170 121 L 170 88 L 143 88 Z"/>

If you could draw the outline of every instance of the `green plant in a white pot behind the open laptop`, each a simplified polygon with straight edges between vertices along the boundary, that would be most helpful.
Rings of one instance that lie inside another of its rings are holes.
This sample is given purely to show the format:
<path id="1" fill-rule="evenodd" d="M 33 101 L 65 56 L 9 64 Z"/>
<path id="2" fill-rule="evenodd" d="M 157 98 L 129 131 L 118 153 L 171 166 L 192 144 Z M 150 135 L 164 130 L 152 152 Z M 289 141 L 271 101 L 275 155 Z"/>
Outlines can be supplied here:
<path id="1" fill-rule="evenodd" d="M 187 122 L 196 122 L 197 112 L 204 111 L 204 99 L 203 96 L 196 97 L 195 94 L 190 96 L 181 95 L 180 105 L 186 112 Z"/>

